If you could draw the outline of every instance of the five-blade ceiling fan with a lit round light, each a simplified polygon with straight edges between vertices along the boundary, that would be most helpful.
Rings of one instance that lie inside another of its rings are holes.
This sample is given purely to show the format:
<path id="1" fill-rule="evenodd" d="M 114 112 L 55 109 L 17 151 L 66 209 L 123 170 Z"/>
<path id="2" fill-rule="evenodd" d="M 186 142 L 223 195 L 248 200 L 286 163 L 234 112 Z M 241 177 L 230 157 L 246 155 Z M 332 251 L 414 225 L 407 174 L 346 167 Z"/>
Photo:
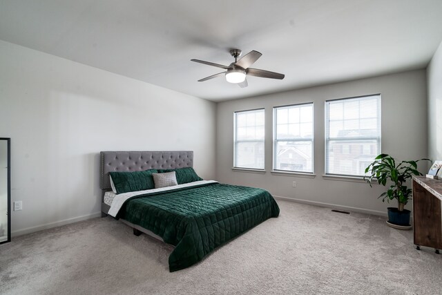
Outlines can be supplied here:
<path id="1" fill-rule="evenodd" d="M 242 51 L 239 49 L 231 49 L 230 54 L 235 59 L 229 66 L 223 66 L 222 64 L 214 64 L 210 61 L 204 61 L 200 59 L 191 59 L 191 61 L 199 62 L 200 64 L 206 64 L 209 66 L 216 66 L 217 68 L 224 68 L 225 72 L 221 72 L 209 77 L 199 79 L 198 82 L 207 81 L 220 75 L 225 75 L 227 82 L 238 84 L 241 88 L 247 87 L 246 75 L 271 78 L 271 79 L 284 79 L 284 74 L 270 72 L 269 70 L 260 70 L 258 68 L 249 68 L 255 61 L 261 57 L 261 53 L 251 50 L 251 52 L 244 55 L 239 60 Z"/>

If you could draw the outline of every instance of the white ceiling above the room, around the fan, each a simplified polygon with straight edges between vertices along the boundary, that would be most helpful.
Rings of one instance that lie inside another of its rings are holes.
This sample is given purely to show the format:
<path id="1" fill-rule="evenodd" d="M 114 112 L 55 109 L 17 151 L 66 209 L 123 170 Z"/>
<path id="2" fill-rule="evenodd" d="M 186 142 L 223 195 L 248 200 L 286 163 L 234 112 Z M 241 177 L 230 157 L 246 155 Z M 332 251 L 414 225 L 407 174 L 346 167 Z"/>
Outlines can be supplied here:
<path id="1" fill-rule="evenodd" d="M 425 68 L 441 0 L 2 0 L 0 39 L 213 101 Z M 198 79 L 230 48 L 285 79 Z"/>

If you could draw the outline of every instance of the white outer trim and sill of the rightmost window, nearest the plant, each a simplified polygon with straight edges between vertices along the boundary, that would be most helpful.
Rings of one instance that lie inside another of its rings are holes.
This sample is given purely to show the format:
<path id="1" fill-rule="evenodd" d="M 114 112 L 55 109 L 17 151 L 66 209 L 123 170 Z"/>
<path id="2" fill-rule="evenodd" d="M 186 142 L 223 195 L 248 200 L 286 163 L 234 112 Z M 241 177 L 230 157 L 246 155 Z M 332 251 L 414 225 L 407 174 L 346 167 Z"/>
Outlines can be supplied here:
<path id="1" fill-rule="evenodd" d="M 345 100 L 345 99 L 356 99 L 356 98 L 361 98 L 361 97 L 369 97 L 369 96 L 379 96 L 379 116 L 378 116 L 378 124 L 381 127 L 380 133 L 379 133 L 379 137 L 367 137 L 364 139 L 361 139 L 361 141 L 365 141 L 365 140 L 378 140 L 378 146 L 379 146 L 379 151 L 378 153 L 381 153 L 382 151 L 382 95 L 381 93 L 374 93 L 374 94 L 370 94 L 370 95 L 360 95 L 360 96 L 354 96 L 354 97 L 345 97 L 345 98 L 338 98 L 338 99 L 327 99 L 324 103 L 324 175 L 323 175 L 323 179 L 325 180 L 342 180 L 342 181 L 352 181 L 352 182 L 366 182 L 365 180 L 363 180 L 364 176 L 361 175 L 349 175 L 349 174 L 337 174 L 337 173 L 327 173 L 328 170 L 328 166 L 327 166 L 327 162 L 328 162 L 328 158 L 327 158 L 327 143 L 329 142 L 329 140 L 327 140 L 327 102 L 333 102 L 336 100 Z M 340 139 L 340 138 L 336 138 L 335 140 L 349 140 L 348 138 L 346 139 Z"/>

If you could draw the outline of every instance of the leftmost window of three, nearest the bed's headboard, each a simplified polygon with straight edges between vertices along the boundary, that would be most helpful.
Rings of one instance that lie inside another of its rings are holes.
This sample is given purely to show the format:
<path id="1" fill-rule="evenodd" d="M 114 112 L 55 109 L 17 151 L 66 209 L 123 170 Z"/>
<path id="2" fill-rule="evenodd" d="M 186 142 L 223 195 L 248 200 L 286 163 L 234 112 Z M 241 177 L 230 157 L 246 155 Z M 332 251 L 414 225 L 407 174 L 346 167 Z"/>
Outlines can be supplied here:
<path id="1" fill-rule="evenodd" d="M 264 169 L 264 108 L 234 113 L 233 166 Z"/>

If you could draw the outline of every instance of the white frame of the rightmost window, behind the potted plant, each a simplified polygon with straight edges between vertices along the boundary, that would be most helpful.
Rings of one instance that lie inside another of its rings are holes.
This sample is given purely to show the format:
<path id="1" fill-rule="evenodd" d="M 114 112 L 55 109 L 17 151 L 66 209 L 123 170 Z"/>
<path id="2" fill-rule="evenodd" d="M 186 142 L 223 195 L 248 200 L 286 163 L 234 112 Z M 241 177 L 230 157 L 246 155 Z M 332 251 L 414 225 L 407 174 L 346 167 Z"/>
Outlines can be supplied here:
<path id="1" fill-rule="evenodd" d="M 329 138 L 329 102 L 336 102 L 336 101 L 344 101 L 349 99 L 361 99 L 363 97 L 378 97 L 378 114 L 377 114 L 377 122 L 379 126 L 379 133 L 378 137 L 361 137 L 361 138 L 349 138 L 349 137 L 341 137 L 341 138 L 334 138 L 332 141 L 341 141 L 341 142 L 365 142 L 365 141 L 377 141 L 378 146 L 378 154 L 382 151 L 382 95 L 381 93 L 374 93 L 370 95 L 360 95 L 360 96 L 354 96 L 354 97 L 345 97 L 345 98 L 338 98 L 338 99 L 327 99 L 325 101 L 325 107 L 324 107 L 324 176 L 327 177 L 341 177 L 341 178 L 356 178 L 356 179 L 363 179 L 364 175 L 353 175 L 353 174 L 345 174 L 345 173 L 329 173 L 329 158 L 327 157 L 327 151 L 328 151 L 328 145 L 330 142 Z M 358 117 L 358 120 L 361 120 L 361 117 Z M 327 138 L 328 137 L 328 138 Z M 374 160 L 374 159 L 373 159 Z"/>

